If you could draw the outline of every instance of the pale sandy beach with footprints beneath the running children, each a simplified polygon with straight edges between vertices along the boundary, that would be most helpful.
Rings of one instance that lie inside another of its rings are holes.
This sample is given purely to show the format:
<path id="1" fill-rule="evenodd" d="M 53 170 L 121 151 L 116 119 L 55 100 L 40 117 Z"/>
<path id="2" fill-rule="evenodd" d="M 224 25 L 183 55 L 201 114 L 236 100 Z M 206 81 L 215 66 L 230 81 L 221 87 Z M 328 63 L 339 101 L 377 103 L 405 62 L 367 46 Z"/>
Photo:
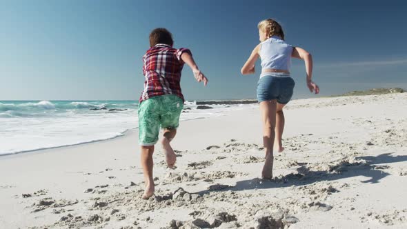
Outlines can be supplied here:
<path id="1" fill-rule="evenodd" d="M 257 106 L 181 121 L 147 201 L 137 129 L 3 156 L 0 228 L 407 228 L 406 114 L 407 93 L 291 101 L 273 181 Z"/>

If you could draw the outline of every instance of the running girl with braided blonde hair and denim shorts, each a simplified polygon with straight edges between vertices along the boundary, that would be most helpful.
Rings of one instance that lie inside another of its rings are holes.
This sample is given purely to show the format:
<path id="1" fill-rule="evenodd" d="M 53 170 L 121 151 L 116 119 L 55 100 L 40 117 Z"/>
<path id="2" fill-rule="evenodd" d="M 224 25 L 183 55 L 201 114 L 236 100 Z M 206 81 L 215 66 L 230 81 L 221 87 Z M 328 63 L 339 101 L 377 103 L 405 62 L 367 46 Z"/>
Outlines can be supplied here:
<path id="1" fill-rule="evenodd" d="M 261 58 L 257 100 L 263 119 L 263 142 L 266 150 L 266 161 L 261 175 L 264 179 L 272 179 L 273 146 L 276 141 L 277 150 L 279 152 L 284 150 L 281 143 L 284 130 L 283 108 L 290 101 L 295 86 L 294 80 L 290 77 L 291 57 L 304 60 L 306 83 L 310 92 L 318 94 L 319 87 L 311 81 L 311 54 L 286 43 L 283 28 L 277 21 L 273 19 L 260 21 L 257 28 L 259 28 L 260 43 L 241 68 L 241 74 L 255 73 L 255 63 L 259 57 Z"/>

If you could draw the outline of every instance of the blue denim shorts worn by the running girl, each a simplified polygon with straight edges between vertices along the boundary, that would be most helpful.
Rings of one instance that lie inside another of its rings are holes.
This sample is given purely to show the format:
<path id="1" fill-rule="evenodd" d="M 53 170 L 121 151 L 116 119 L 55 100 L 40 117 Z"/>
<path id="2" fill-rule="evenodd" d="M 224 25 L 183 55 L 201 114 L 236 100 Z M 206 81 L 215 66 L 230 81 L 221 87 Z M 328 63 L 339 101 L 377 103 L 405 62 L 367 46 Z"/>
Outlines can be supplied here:
<path id="1" fill-rule="evenodd" d="M 269 101 L 277 99 L 277 103 L 286 104 L 290 101 L 295 82 L 291 77 L 275 77 L 264 75 L 257 83 L 257 100 Z"/>

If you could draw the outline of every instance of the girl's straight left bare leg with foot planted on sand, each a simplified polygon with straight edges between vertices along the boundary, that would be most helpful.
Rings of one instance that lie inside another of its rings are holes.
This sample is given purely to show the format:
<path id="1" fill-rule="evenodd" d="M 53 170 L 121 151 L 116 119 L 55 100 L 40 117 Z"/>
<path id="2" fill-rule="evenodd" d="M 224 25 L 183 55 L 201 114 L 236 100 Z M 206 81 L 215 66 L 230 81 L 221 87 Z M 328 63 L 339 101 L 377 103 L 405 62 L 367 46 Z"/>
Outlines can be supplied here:
<path id="1" fill-rule="evenodd" d="M 263 143 L 266 150 L 266 161 L 264 161 L 261 176 L 265 179 L 272 179 L 272 164 L 274 161 L 272 150 L 275 139 L 276 103 L 275 99 L 260 103 L 263 119 Z"/>

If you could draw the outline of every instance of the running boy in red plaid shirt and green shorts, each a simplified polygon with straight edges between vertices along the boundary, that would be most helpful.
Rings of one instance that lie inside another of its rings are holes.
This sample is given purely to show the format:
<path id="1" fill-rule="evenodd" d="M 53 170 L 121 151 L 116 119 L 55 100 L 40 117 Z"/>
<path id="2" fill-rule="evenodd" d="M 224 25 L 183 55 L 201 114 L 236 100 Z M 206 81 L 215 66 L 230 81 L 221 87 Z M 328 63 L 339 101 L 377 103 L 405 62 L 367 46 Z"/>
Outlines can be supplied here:
<path id="1" fill-rule="evenodd" d="M 183 63 L 192 69 L 195 79 L 208 79 L 198 69 L 187 48 L 172 48 L 172 34 L 165 28 L 156 28 L 150 33 L 150 49 L 143 56 L 144 90 L 139 99 L 139 144 L 141 146 L 141 166 L 143 167 L 146 190 L 142 198 L 154 194 L 152 180 L 152 154 L 158 141 L 159 128 L 163 129 L 161 146 L 169 168 L 173 168 L 177 157 L 170 141 L 177 133 L 179 115 L 183 109 L 183 95 L 179 85 Z"/>

